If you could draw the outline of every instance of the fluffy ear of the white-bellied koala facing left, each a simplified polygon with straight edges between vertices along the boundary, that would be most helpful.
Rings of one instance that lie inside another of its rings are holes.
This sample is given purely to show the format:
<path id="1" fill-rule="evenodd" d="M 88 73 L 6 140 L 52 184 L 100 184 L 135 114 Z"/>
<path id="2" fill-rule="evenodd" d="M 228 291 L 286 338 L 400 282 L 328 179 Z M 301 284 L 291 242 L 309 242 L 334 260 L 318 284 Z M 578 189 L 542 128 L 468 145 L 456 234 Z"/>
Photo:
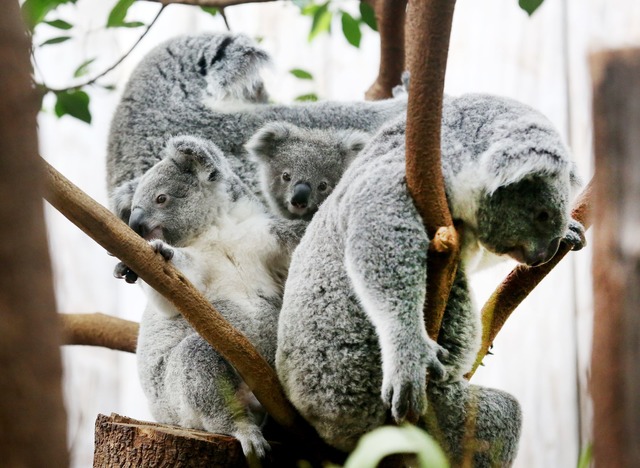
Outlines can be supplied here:
<path id="1" fill-rule="evenodd" d="M 170 157 L 183 172 L 192 172 L 202 181 L 213 181 L 218 177 L 223 158 L 215 144 L 194 136 L 179 136 L 169 140 Z"/>

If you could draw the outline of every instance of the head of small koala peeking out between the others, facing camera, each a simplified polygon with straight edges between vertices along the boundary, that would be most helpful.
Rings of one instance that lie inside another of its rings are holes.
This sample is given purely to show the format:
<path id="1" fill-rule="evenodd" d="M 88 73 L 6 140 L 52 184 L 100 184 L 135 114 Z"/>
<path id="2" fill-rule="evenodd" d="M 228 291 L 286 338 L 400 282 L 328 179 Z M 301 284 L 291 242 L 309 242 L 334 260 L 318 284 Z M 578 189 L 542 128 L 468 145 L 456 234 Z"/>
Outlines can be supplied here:
<path id="1" fill-rule="evenodd" d="M 262 193 L 272 211 L 310 221 L 368 140 L 358 130 L 271 122 L 245 147 L 260 166 Z"/>

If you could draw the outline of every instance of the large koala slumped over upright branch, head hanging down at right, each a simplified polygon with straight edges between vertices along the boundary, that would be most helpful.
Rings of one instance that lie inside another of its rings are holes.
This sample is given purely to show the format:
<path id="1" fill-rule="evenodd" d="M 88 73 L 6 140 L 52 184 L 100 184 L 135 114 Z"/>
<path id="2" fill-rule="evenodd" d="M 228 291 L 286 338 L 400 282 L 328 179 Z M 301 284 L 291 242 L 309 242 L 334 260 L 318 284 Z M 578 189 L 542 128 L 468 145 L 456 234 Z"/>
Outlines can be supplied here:
<path id="1" fill-rule="evenodd" d="M 489 254 L 535 265 L 560 239 L 579 249 L 584 229 L 569 215 L 574 166 L 530 107 L 487 95 L 445 98 L 442 170 L 462 223 L 463 261 L 436 344 L 424 331 L 429 239 L 407 191 L 404 140 L 405 117 L 385 125 L 309 224 L 285 287 L 278 375 L 294 406 L 341 450 L 384 424 L 389 408 L 400 422 L 423 415 L 428 399 L 423 424 L 440 434 L 454 465 L 468 456 L 474 419 L 485 447 L 474 466 L 508 466 L 519 440 L 517 400 L 463 379 L 481 331 L 466 273 Z"/>

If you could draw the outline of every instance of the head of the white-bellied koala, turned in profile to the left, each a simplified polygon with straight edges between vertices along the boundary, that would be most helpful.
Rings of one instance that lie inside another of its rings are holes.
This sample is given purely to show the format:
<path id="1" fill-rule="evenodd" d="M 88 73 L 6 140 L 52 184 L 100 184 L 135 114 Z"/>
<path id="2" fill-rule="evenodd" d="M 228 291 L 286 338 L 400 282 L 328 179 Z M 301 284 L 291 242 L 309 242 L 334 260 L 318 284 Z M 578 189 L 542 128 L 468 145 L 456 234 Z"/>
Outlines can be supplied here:
<path id="1" fill-rule="evenodd" d="M 129 226 L 145 239 L 185 245 L 215 223 L 239 186 L 220 150 L 195 137 L 176 137 L 166 156 L 140 179 Z"/>

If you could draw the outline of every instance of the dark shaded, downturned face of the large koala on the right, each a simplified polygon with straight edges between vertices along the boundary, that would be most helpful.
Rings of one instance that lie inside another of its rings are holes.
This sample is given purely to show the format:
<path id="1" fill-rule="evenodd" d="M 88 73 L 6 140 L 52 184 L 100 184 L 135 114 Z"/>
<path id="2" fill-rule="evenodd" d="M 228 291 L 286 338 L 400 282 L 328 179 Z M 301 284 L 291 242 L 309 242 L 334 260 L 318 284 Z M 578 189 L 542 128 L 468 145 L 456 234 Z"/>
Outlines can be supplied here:
<path id="1" fill-rule="evenodd" d="M 567 186 L 541 175 L 484 195 L 477 216 L 480 243 L 529 266 L 548 262 L 569 226 Z"/>

